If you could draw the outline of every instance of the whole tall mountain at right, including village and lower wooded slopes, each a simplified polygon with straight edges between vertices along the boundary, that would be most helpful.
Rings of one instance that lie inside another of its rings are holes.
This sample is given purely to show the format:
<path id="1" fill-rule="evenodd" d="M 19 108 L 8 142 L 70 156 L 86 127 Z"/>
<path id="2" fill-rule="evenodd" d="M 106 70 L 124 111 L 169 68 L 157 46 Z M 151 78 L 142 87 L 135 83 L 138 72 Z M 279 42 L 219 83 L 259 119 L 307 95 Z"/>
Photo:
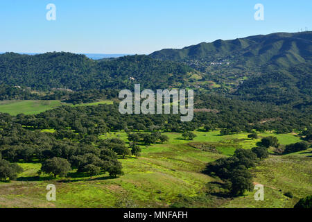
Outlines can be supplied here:
<path id="1" fill-rule="evenodd" d="M 214 91 L 241 99 L 311 104 L 312 32 L 202 42 L 150 56 L 197 69 L 202 77 L 194 84 L 201 88 L 216 83 Z"/>

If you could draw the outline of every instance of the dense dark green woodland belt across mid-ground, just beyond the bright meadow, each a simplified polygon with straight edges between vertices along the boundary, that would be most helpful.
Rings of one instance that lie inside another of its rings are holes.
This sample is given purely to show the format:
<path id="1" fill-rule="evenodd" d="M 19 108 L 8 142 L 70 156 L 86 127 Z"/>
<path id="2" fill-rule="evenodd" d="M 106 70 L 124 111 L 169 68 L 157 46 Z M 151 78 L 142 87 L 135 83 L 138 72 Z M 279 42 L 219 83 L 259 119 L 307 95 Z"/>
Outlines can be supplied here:
<path id="1" fill-rule="evenodd" d="M 252 130 L 291 133 L 293 130 L 304 131 L 311 128 L 312 121 L 311 115 L 302 114 L 297 110 L 282 110 L 275 105 L 207 94 L 201 94 L 196 99 L 195 105 L 198 110 L 195 110 L 191 122 L 181 122 L 179 114 L 120 114 L 118 105 L 114 103 L 76 108 L 63 106 L 36 115 L 7 115 L 5 118 L 30 129 L 53 128 L 68 131 L 70 128 L 79 134 L 78 137 L 126 129 L 184 133 L 200 127 L 204 127 L 205 131 L 222 129 L 223 135 Z M 4 117 L 4 114 L 2 116 Z M 309 138 L 311 132 L 306 134 L 306 138 Z"/>

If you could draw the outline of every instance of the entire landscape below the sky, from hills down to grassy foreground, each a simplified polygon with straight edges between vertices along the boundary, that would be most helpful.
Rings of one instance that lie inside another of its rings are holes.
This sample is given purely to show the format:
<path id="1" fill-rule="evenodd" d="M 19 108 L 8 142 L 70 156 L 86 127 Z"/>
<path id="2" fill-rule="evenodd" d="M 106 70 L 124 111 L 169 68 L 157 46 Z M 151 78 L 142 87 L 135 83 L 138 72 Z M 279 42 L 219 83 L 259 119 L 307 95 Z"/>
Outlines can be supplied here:
<path id="1" fill-rule="evenodd" d="M 0 55 L 0 207 L 309 205 L 311 36 L 103 60 Z M 121 114 L 119 91 L 136 83 L 194 89 L 193 119 Z"/>

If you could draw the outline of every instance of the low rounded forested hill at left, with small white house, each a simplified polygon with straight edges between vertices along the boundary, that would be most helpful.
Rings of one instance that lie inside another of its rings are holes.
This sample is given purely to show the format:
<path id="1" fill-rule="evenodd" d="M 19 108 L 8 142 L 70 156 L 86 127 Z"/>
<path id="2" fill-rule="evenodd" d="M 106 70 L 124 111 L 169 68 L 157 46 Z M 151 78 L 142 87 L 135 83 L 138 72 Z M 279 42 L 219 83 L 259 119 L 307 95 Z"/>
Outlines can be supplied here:
<path id="1" fill-rule="evenodd" d="M 148 56 L 125 56 L 115 60 L 90 60 L 73 53 L 44 53 L 35 56 L 0 55 L 0 84 L 37 90 L 66 88 L 124 89 L 141 83 L 146 88 L 183 85 L 193 69 Z"/>

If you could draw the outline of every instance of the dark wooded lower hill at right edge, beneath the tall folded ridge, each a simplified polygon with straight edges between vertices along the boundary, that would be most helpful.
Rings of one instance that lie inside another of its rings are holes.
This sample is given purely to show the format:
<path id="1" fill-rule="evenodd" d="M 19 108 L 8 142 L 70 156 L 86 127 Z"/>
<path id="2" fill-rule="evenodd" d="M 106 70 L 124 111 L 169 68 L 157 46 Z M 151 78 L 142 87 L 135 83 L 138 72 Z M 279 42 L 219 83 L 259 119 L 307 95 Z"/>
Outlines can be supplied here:
<path id="1" fill-rule="evenodd" d="M 312 65 L 301 64 L 286 69 L 263 69 L 245 80 L 235 95 L 242 99 L 266 101 L 277 105 L 311 103 Z"/>

